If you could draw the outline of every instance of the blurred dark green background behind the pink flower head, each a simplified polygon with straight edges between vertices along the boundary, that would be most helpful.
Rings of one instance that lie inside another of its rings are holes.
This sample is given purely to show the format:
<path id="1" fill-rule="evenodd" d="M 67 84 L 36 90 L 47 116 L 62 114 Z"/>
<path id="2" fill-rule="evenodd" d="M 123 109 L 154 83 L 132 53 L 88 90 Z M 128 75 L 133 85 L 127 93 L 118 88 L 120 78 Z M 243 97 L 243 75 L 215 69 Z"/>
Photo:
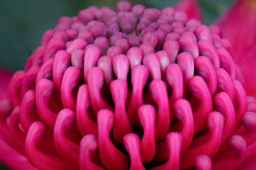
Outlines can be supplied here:
<path id="1" fill-rule="evenodd" d="M 23 70 L 26 60 L 40 45 L 47 29 L 61 16 L 76 16 L 95 5 L 115 9 L 118 0 L 0 0 L 0 67 L 12 72 Z M 130 0 L 132 5 L 163 9 L 178 0 Z M 198 0 L 205 24 L 211 24 L 235 0 Z M 1 154 L 1 153 L 0 153 Z M 0 169 L 7 170 L 0 164 Z"/>

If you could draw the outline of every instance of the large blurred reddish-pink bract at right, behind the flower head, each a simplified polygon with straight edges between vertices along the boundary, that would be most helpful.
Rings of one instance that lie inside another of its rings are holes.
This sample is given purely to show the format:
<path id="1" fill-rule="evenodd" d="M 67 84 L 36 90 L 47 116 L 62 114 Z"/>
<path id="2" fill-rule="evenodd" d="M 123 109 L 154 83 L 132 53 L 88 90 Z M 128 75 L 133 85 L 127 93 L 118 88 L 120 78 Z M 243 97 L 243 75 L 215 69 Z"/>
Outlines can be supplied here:
<path id="1" fill-rule="evenodd" d="M 223 31 L 223 45 L 244 75 L 247 95 L 256 97 L 256 79 L 251 78 L 256 77 L 256 1 L 237 1 L 217 24 Z"/>

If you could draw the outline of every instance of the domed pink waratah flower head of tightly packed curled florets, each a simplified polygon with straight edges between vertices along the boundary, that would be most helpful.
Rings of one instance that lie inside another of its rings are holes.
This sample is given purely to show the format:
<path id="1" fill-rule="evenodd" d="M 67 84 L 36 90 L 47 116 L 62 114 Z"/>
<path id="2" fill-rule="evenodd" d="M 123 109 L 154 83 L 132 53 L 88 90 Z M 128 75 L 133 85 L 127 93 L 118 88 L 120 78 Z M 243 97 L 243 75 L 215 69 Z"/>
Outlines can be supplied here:
<path id="1" fill-rule="evenodd" d="M 1 161 L 22 170 L 244 168 L 256 157 L 256 99 L 221 29 L 198 19 L 127 1 L 60 18 L 0 102 L 0 133 L 15 150 Z"/>

